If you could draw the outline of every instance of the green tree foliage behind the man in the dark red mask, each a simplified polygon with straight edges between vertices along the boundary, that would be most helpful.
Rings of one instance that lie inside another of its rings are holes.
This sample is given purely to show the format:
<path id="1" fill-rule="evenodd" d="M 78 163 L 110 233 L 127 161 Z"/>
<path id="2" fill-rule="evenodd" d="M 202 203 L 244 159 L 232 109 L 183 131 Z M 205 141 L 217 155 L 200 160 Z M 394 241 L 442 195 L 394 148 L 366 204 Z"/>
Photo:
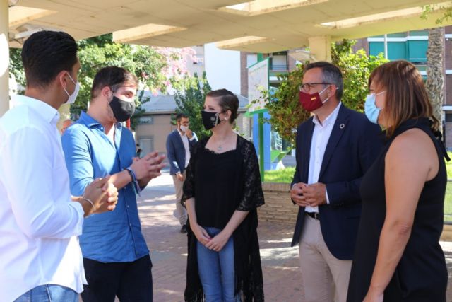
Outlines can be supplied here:
<path id="1" fill-rule="evenodd" d="M 355 41 L 343 40 L 331 45 L 332 63 L 339 67 L 344 78 L 342 102 L 348 108 L 361 111 L 368 93 L 367 81 L 376 66 L 387 62 L 383 54 L 367 56 L 364 50 L 353 52 Z M 279 76 L 278 90 L 268 97 L 266 108 L 270 113 L 270 124 L 283 139 L 295 145 L 295 132 L 299 124 L 310 117 L 310 113 L 299 105 L 299 85 L 302 83 L 304 66 L 298 64 L 294 71 Z"/>

